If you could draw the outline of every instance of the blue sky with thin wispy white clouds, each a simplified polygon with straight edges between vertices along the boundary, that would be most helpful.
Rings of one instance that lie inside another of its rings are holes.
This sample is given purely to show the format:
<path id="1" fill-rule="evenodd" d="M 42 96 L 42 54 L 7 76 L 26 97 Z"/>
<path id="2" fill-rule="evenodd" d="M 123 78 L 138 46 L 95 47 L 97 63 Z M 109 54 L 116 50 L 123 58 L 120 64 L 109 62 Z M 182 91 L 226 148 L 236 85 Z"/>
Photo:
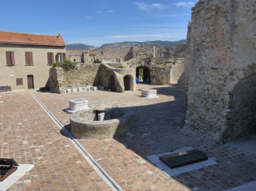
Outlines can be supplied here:
<path id="1" fill-rule="evenodd" d="M 66 44 L 186 39 L 197 0 L 13 0 L 1 2 L 0 30 L 61 33 Z"/>

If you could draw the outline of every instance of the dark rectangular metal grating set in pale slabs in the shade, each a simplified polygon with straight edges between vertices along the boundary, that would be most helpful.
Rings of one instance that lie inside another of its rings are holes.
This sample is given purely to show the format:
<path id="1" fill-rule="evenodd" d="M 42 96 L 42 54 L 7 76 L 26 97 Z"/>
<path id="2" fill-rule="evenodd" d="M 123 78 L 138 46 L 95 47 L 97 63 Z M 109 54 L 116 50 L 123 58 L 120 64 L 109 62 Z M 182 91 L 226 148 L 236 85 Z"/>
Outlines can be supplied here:
<path id="1" fill-rule="evenodd" d="M 163 155 L 159 157 L 164 164 L 170 168 L 177 168 L 208 160 L 208 156 L 200 150 L 187 150 L 179 153 Z"/>

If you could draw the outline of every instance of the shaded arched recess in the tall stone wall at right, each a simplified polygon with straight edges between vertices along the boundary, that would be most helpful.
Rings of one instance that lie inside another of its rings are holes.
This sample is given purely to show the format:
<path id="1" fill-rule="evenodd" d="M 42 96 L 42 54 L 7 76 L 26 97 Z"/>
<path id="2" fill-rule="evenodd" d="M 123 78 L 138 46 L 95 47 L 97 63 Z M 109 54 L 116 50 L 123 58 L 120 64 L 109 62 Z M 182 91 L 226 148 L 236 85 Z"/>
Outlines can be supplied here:
<path id="1" fill-rule="evenodd" d="M 256 133 L 256 74 L 242 79 L 230 93 L 227 121 L 224 140 L 230 141 Z"/>

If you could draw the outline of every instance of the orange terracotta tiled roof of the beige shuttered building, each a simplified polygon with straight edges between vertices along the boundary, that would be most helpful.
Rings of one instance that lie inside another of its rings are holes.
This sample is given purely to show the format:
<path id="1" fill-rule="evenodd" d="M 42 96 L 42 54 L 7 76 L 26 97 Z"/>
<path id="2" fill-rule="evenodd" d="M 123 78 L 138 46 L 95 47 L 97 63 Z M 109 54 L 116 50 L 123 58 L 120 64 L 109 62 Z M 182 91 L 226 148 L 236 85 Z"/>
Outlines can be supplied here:
<path id="1" fill-rule="evenodd" d="M 0 43 L 18 44 L 40 44 L 40 45 L 59 45 L 65 46 L 62 36 L 58 35 L 36 35 L 19 32 L 0 31 Z"/>

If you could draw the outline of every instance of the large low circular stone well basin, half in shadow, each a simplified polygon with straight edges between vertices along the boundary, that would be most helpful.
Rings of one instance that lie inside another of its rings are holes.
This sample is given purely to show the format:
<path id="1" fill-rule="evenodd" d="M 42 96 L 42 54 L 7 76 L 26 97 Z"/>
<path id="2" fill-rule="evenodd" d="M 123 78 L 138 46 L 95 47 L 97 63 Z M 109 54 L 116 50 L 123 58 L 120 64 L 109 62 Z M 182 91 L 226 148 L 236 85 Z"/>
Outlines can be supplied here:
<path id="1" fill-rule="evenodd" d="M 133 113 L 124 113 L 118 108 L 113 108 L 98 115 L 96 110 L 88 109 L 73 113 L 69 120 L 71 134 L 76 139 L 107 139 L 114 135 L 128 132 L 134 126 Z"/>

